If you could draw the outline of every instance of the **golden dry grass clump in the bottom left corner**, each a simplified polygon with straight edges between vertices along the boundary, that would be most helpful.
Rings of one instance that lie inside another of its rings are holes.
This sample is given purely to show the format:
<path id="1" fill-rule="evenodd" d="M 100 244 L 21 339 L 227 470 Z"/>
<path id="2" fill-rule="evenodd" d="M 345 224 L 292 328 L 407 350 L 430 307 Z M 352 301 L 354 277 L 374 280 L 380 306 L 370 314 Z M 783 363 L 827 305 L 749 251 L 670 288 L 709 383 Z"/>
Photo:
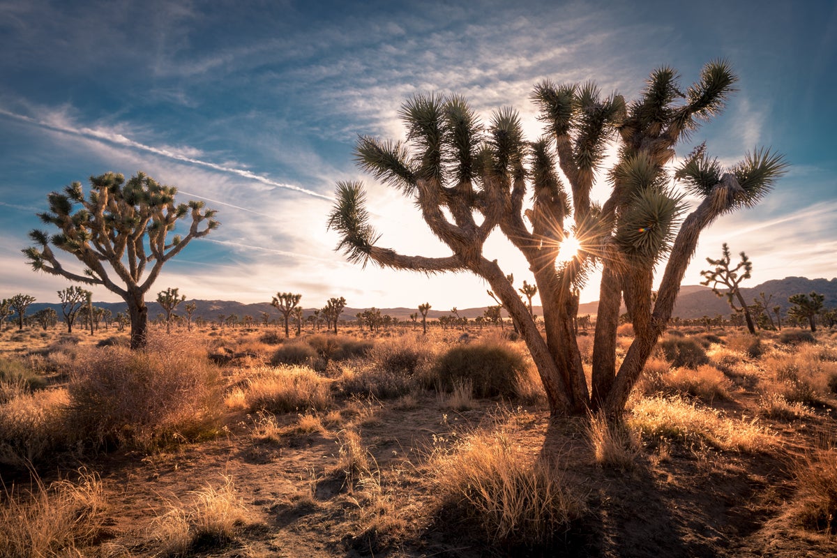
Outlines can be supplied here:
<path id="1" fill-rule="evenodd" d="M 0 504 L 0 558 L 83 555 L 80 548 L 100 534 L 105 495 L 96 474 L 80 470 L 78 482 L 28 490 L 7 489 Z"/>

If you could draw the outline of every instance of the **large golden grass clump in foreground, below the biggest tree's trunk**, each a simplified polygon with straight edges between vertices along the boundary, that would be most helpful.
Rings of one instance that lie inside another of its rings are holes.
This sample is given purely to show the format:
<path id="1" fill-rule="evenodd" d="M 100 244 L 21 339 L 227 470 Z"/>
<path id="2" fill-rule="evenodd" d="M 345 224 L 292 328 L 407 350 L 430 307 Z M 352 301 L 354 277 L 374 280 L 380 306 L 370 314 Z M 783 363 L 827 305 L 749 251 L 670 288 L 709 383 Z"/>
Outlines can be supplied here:
<path id="1" fill-rule="evenodd" d="M 551 545 L 585 512 L 555 463 L 535 458 L 503 431 L 474 433 L 449 453 L 436 450 L 430 468 L 437 515 L 459 516 L 455 523 L 474 525 L 490 545 Z"/>

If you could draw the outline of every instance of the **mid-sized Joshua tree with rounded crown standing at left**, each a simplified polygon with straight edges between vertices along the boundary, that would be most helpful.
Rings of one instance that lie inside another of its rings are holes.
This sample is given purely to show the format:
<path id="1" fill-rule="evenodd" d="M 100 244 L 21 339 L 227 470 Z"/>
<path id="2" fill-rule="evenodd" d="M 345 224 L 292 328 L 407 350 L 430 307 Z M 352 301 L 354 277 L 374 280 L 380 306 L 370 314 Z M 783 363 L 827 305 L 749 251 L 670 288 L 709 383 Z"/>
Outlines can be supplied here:
<path id="1" fill-rule="evenodd" d="M 131 315 L 131 349 L 146 346 L 148 307 L 145 295 L 162 265 L 174 258 L 194 238 L 218 227 L 215 212 L 203 202 L 175 204 L 177 188 L 159 184 L 138 172 L 125 182 L 121 174 L 108 172 L 90 177 L 85 199 L 80 182 L 49 194 L 49 211 L 39 213 L 44 223 L 59 233 L 33 230 L 29 238 L 37 246 L 25 248 L 33 269 L 61 275 L 85 284 L 100 284 L 119 294 Z M 74 210 L 76 204 L 81 207 Z M 190 217 L 185 236 L 166 237 L 177 221 Z M 59 262 L 53 248 L 73 254 L 86 269 L 76 274 Z M 146 266 L 151 265 L 146 275 Z"/>

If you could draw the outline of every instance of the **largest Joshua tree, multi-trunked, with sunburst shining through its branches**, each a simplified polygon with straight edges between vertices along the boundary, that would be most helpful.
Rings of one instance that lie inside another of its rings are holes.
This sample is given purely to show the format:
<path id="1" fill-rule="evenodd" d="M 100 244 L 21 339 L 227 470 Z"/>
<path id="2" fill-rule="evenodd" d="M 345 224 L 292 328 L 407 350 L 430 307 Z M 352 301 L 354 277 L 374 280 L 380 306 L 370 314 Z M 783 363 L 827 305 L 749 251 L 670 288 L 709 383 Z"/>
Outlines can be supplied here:
<path id="1" fill-rule="evenodd" d="M 721 215 L 755 205 L 783 174 L 783 158 L 768 150 L 749 153 L 725 170 L 700 146 L 675 171 L 674 178 L 697 198 L 680 223 L 688 204 L 685 193 L 675 191 L 667 166 L 675 146 L 721 110 L 735 81 L 729 65 L 716 61 L 683 90 L 675 70 L 664 67 L 650 74 L 639 98 L 630 102 L 601 95 L 593 83 L 544 81 L 531 98 L 547 136 L 533 142 L 524 140 L 511 109 L 497 110 L 482 125 L 462 97 L 417 95 L 400 113 L 407 141 L 361 136 L 355 154 L 362 169 L 415 202 L 450 255 L 409 256 L 380 246 L 358 182 L 337 183 L 329 220 L 341 236 L 337 248 L 361 264 L 371 260 L 426 274 L 479 275 L 519 325 L 553 414 L 589 408 L 619 414 L 665 330 L 701 231 Z M 614 141 L 618 161 L 603 169 Z M 601 206 L 591 200 L 597 177 L 610 187 Z M 530 201 L 531 207 L 524 207 Z M 497 228 L 535 276 L 545 336 L 496 259 L 483 254 L 486 238 Z M 559 259 L 567 253 L 562 246 L 572 243 L 578 249 Z M 652 301 L 655 264 L 666 257 Z M 574 319 L 578 289 L 596 265 L 603 279 L 588 386 Z M 617 370 L 623 299 L 635 337 Z"/>

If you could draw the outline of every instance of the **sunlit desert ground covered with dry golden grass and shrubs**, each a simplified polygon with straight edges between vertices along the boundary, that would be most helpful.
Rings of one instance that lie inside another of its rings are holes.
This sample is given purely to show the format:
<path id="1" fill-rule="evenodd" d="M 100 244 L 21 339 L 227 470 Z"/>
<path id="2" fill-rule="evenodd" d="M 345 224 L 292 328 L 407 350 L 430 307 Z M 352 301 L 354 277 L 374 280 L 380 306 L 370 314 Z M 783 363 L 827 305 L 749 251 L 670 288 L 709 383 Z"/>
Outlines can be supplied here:
<path id="1" fill-rule="evenodd" d="M 550 417 L 511 327 L 285 339 L 272 324 L 167 335 L 166 322 L 139 351 L 107 330 L 3 337 L 4 555 L 833 548 L 829 330 L 670 329 L 614 421 Z"/>

